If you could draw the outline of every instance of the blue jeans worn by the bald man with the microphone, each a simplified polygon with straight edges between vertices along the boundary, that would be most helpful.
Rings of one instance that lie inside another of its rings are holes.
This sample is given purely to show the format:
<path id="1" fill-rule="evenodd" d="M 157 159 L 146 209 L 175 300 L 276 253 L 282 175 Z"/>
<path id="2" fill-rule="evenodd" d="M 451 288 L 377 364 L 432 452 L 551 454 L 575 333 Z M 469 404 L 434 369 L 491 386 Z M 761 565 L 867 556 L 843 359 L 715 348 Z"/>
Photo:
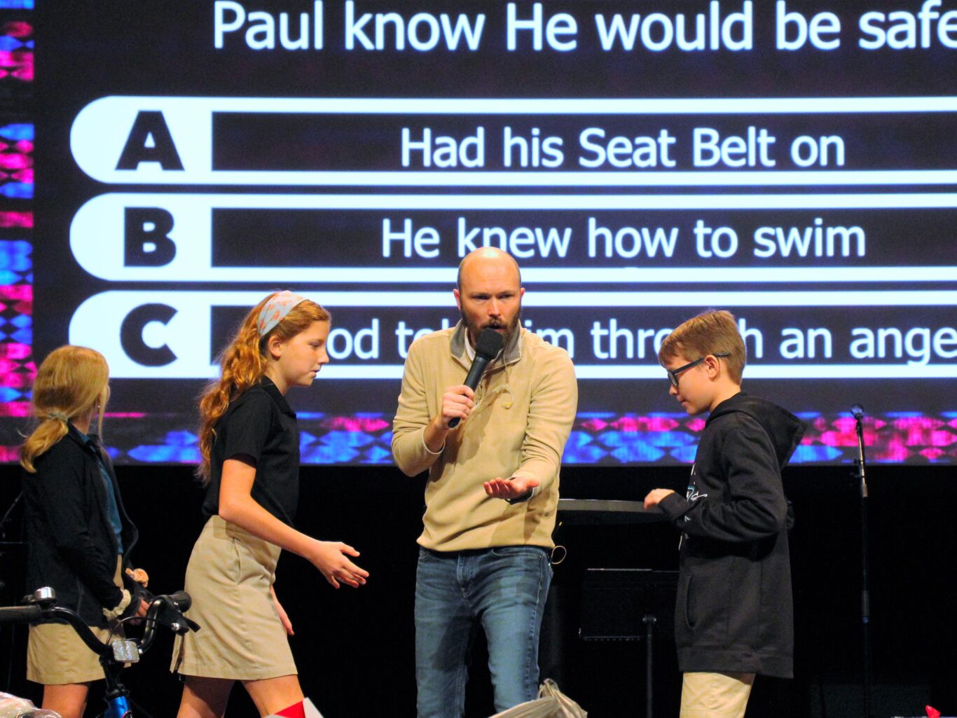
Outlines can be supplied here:
<path id="1" fill-rule="evenodd" d="M 461 718 L 466 660 L 479 623 L 488 641 L 495 710 L 538 695 L 538 642 L 551 582 L 548 551 L 505 546 L 419 549 L 415 575 L 418 718 Z"/>

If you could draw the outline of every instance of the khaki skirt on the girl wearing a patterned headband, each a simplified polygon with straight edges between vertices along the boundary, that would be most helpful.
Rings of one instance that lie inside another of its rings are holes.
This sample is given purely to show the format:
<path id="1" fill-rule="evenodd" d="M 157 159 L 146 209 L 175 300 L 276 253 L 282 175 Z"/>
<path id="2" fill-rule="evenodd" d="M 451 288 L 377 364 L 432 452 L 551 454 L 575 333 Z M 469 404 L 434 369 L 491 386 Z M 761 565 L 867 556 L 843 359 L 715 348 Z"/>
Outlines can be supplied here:
<path id="1" fill-rule="evenodd" d="M 187 616 L 198 632 L 177 637 L 170 670 L 184 676 L 260 681 L 298 673 L 270 594 L 279 548 L 212 516 L 189 556 Z"/>

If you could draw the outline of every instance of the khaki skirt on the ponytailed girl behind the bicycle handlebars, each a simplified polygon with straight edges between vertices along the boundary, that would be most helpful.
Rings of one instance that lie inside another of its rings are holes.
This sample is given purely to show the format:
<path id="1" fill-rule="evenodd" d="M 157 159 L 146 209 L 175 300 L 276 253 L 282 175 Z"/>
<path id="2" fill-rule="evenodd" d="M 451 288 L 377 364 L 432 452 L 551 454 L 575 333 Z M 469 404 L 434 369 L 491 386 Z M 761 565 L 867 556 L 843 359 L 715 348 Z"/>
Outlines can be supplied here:
<path id="1" fill-rule="evenodd" d="M 122 556 L 117 557 L 113 583 L 122 588 Z M 110 627 L 116 625 L 111 622 Z M 100 640 L 109 636 L 109 628 L 91 630 Z M 122 631 L 119 632 L 122 636 Z M 79 638 L 73 626 L 43 623 L 30 627 L 27 641 L 27 680 L 44 685 L 85 684 L 103 678 L 100 657 Z"/>

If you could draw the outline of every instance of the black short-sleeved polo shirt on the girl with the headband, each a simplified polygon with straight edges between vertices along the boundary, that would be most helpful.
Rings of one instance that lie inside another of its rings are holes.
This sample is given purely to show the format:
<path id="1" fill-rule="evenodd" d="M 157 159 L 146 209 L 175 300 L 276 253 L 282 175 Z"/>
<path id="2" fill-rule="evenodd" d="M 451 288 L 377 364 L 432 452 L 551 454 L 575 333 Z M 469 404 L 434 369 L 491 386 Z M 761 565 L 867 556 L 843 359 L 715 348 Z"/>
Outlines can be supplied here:
<path id="1" fill-rule="evenodd" d="M 203 513 L 219 512 L 223 462 L 244 455 L 256 463 L 252 496 L 279 521 L 293 525 L 299 505 L 299 427 L 296 413 L 266 376 L 230 402 L 215 425 L 211 481 Z"/>

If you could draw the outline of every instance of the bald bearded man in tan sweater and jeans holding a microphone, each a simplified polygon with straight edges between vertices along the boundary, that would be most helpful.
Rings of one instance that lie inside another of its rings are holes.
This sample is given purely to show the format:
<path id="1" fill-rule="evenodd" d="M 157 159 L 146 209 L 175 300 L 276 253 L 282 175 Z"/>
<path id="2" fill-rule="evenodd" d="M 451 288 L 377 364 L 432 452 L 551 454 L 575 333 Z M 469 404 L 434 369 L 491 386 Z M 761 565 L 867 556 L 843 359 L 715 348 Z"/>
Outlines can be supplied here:
<path id="1" fill-rule="evenodd" d="M 418 718 L 462 716 L 479 626 L 496 711 L 538 693 L 558 474 L 578 387 L 565 349 L 519 324 L 524 292 L 514 258 L 472 252 L 453 290 L 461 321 L 413 342 L 406 359 L 392 456 L 409 476 L 429 471 L 415 581 Z M 463 382 L 485 328 L 504 347 L 473 392 Z"/>

